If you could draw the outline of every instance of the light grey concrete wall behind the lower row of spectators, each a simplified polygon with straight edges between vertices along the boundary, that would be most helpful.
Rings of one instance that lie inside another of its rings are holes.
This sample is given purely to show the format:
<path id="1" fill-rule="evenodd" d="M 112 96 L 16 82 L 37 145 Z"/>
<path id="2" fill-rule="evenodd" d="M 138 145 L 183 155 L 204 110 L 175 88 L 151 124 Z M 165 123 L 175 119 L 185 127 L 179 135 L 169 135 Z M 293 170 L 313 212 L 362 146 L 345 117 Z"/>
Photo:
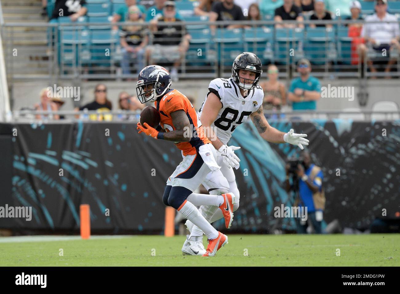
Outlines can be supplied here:
<path id="1" fill-rule="evenodd" d="M 286 84 L 286 80 L 281 80 Z M 186 96 L 191 96 L 196 101 L 194 106 L 198 109 L 207 92 L 210 80 L 182 80 L 173 84 L 173 87 L 180 90 Z M 81 100 L 79 105 L 84 105 L 94 99 L 93 89 L 98 82 L 82 82 L 80 85 Z M 118 93 L 126 91 L 136 95 L 136 82 L 115 82 L 105 81 L 104 84 L 108 87 L 108 99 L 113 103 L 114 108 L 118 108 Z M 321 80 L 321 86 L 350 86 L 354 87 L 354 101 L 348 101 L 347 98 L 321 98 L 317 103 L 318 110 L 341 110 L 343 108 L 360 107 L 358 104 L 357 93 L 359 92 L 359 82 L 357 79 L 346 80 Z M 48 86 L 45 81 L 38 80 L 32 82 L 15 82 L 13 84 L 14 101 L 12 110 L 19 110 L 21 107 L 33 107 L 33 104 L 39 102 L 39 92 L 42 88 Z M 60 81 L 57 86 L 72 86 L 70 81 Z M 382 100 L 394 101 L 400 106 L 400 81 L 399 80 L 369 80 L 368 93 L 369 99 L 365 106 L 365 110 L 370 110 L 374 102 Z M 66 103 L 63 110 L 72 110 L 74 101 L 72 98 L 65 99 Z"/>

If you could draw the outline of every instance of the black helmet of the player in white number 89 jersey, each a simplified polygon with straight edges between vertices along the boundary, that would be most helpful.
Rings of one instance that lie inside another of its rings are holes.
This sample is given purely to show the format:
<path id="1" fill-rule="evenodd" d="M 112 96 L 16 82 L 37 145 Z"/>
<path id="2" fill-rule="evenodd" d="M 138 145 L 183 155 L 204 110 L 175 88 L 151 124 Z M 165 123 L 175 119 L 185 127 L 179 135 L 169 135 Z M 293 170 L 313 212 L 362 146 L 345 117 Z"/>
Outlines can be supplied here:
<path id="1" fill-rule="evenodd" d="M 256 73 L 256 78 L 254 80 L 245 79 L 244 83 L 239 80 L 239 70 L 250 70 Z M 262 74 L 262 64 L 260 58 L 252 52 L 243 52 L 235 58 L 232 64 L 232 80 L 243 90 L 250 90 L 254 88 L 260 81 L 260 76 Z M 250 83 L 246 83 L 249 81 Z"/>

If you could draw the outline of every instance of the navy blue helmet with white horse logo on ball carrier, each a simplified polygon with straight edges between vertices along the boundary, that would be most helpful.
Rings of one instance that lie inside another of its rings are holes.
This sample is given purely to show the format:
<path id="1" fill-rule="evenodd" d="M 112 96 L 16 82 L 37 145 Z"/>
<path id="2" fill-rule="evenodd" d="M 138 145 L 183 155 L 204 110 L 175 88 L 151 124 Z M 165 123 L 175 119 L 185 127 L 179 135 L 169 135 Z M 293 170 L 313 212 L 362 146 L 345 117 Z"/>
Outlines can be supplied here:
<path id="1" fill-rule="evenodd" d="M 141 103 L 154 102 L 165 94 L 171 84 L 170 73 L 165 68 L 149 65 L 139 72 L 136 94 Z"/>

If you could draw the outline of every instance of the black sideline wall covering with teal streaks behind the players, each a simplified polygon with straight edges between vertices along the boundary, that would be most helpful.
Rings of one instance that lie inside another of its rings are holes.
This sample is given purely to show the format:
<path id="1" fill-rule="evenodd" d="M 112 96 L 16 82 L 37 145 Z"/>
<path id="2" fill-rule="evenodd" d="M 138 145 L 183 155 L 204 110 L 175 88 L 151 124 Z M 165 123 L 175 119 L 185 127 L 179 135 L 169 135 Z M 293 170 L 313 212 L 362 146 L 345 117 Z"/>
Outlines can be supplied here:
<path id="1" fill-rule="evenodd" d="M 338 219 L 342 227 L 363 229 L 382 216 L 383 208 L 388 217 L 400 211 L 400 122 L 271 125 L 308 134 L 312 160 L 324 172 L 326 223 Z M 0 130 L 0 206 L 32 206 L 33 214 L 31 221 L 0 218 L 0 228 L 77 233 L 79 205 L 87 203 L 94 233 L 163 231 L 162 193 L 182 159 L 172 142 L 138 134 L 135 124 L 123 122 L 0 124 Z M 283 188 L 284 162 L 299 149 L 265 142 L 251 122 L 235 130 L 230 144 L 242 147 L 235 171 L 240 208 L 230 230 L 294 230 L 293 219 L 274 218 L 274 207 L 293 204 Z M 106 208 L 110 216 L 105 216 Z M 223 221 L 214 224 L 224 230 Z"/>

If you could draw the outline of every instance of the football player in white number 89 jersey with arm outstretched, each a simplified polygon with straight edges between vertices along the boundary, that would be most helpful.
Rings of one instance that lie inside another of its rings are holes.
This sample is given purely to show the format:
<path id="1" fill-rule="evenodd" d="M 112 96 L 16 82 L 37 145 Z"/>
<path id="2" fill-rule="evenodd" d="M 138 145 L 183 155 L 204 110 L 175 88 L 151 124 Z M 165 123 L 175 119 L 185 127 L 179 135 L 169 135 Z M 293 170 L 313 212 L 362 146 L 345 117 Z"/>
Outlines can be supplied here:
<path id="1" fill-rule="evenodd" d="M 217 78 L 210 82 L 208 93 L 198 116 L 206 135 L 212 145 L 218 150 L 217 163 L 222 166 L 223 176 L 229 182 L 229 192 L 236 196 L 236 204 L 233 211 L 239 207 L 240 193 L 236 185 L 235 174 L 232 167 L 239 168 L 240 159 L 234 153 L 240 147 L 227 146 L 232 133 L 237 126 L 244 123 L 249 117 L 252 119 L 260 136 L 274 143 L 290 143 L 303 149 L 302 145 L 308 145 L 306 134 L 294 134 L 291 129 L 288 133 L 280 132 L 270 126 L 262 110 L 264 92 L 258 82 L 262 74 L 260 58 L 251 52 L 243 52 L 233 62 L 232 77 L 229 79 Z M 218 178 L 213 173 L 208 174 L 202 183 L 210 194 L 224 194 L 228 191 L 218 188 Z M 201 206 L 200 212 L 210 223 L 223 217 L 222 211 L 216 206 Z M 191 239 L 186 240 L 182 252 L 193 242 L 199 245 L 203 232 L 190 222 L 186 226 L 191 232 Z M 202 245 L 202 244 L 200 244 Z"/>

